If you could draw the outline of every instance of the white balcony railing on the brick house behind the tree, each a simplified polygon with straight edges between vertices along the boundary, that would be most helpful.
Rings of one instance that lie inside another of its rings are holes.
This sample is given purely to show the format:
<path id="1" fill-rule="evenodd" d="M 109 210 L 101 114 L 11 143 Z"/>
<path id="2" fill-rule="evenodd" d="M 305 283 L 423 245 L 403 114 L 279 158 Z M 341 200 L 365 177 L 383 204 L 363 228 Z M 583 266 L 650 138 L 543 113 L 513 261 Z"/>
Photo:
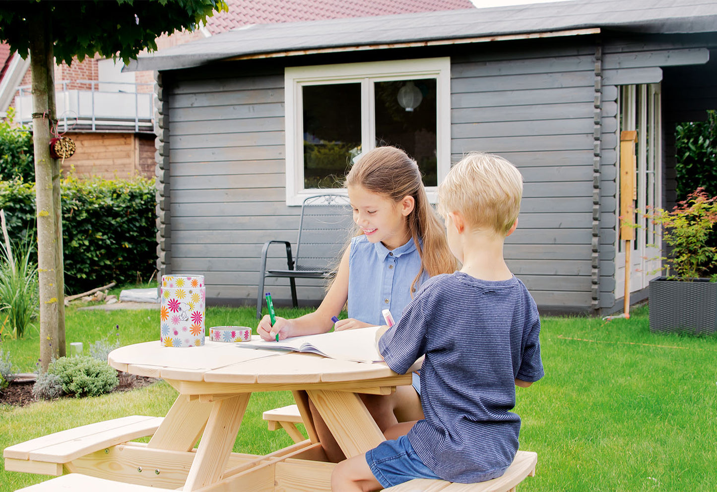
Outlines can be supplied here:
<path id="1" fill-rule="evenodd" d="M 57 82 L 55 87 L 61 87 L 55 92 L 57 130 L 60 132 L 154 131 L 153 84 L 74 80 Z M 16 122 L 32 125 L 32 86 L 19 87 L 15 111 Z"/>

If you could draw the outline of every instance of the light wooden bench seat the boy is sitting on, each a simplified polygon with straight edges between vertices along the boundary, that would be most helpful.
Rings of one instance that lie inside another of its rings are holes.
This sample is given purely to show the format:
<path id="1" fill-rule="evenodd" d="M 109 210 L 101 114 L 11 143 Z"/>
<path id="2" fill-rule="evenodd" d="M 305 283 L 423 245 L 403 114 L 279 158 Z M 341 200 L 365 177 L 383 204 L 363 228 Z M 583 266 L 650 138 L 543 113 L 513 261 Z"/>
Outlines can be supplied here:
<path id="1" fill-rule="evenodd" d="M 384 488 L 384 492 L 515 492 L 527 476 L 535 476 L 538 453 L 518 451 L 503 476 L 479 483 L 451 483 L 416 478 L 400 485 Z"/>

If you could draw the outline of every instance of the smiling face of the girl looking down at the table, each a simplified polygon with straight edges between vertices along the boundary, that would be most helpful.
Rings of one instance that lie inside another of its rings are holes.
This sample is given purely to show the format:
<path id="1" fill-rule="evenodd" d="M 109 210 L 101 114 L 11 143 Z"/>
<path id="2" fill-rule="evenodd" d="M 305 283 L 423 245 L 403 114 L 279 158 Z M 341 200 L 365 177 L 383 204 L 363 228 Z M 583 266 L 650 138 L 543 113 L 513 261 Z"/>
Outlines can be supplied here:
<path id="1" fill-rule="evenodd" d="M 412 196 L 395 202 L 389 196 L 374 193 L 358 185 L 348 186 L 348 199 L 353 208 L 353 221 L 371 243 L 388 249 L 403 246 L 411 238 L 406 217 L 415 206 Z"/>

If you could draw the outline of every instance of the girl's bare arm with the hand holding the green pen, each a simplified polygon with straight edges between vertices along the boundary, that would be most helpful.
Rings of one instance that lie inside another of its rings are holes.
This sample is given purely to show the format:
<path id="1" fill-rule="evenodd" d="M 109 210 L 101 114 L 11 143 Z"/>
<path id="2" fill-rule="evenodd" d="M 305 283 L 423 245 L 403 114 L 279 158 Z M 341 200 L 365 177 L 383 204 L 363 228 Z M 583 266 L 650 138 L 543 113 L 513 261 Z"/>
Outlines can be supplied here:
<path id="1" fill-rule="evenodd" d="M 348 299 L 348 255 L 350 250 L 351 248 L 348 247 L 344 251 L 341 263 L 338 264 L 336 278 L 333 279 L 333 284 L 331 284 L 331 289 L 328 289 L 326 297 L 323 298 L 315 312 L 304 314 L 294 319 L 276 317 L 273 327 L 269 316 L 266 315 L 259 322 L 257 334 L 260 334 L 262 339 L 273 340 L 275 336 L 272 336 L 272 332 L 273 334 L 278 334 L 279 339 L 328 332 L 333 327 L 331 317 L 341 312 Z"/>

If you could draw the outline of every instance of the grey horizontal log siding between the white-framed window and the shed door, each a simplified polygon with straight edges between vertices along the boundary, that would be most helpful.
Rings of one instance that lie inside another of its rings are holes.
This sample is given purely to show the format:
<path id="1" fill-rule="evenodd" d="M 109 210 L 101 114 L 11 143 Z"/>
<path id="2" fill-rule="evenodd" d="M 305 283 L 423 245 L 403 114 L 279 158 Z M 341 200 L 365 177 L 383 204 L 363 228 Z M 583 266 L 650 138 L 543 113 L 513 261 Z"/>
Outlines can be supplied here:
<path id="1" fill-rule="evenodd" d="M 596 309 L 596 49 L 589 42 L 540 45 L 452 57 L 452 160 L 478 150 L 521 170 L 508 266 L 543 309 Z"/>

